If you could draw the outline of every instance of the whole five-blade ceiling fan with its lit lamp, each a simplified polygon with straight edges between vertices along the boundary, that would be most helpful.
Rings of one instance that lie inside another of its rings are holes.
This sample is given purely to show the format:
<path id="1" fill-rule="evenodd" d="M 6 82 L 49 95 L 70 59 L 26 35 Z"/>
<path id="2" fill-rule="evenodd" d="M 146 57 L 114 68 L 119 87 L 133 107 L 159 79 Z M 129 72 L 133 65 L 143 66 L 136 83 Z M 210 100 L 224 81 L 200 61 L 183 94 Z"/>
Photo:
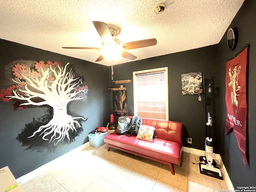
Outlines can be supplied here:
<path id="1" fill-rule="evenodd" d="M 139 41 L 128 42 L 120 44 L 120 40 L 114 38 L 116 30 L 114 28 L 109 28 L 106 23 L 100 21 L 93 21 L 94 27 L 96 28 L 100 38 L 102 39 L 102 48 L 94 47 L 62 47 L 64 49 L 97 49 L 102 50 L 102 54 L 95 60 L 95 62 L 102 61 L 104 58 L 108 60 L 116 60 L 120 56 L 134 60 L 137 57 L 130 54 L 124 50 L 137 49 L 142 47 L 148 47 L 156 45 L 157 41 L 155 38 L 145 39 Z"/>

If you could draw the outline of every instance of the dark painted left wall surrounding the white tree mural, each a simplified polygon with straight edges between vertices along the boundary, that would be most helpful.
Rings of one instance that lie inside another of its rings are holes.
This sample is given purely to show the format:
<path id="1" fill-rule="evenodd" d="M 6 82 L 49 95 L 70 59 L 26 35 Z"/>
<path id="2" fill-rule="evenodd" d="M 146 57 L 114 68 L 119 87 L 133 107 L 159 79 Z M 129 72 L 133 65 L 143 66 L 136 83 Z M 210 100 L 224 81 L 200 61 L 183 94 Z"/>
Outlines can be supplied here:
<path id="1" fill-rule="evenodd" d="M 48 109 L 46 107 L 33 107 L 25 110 L 13 110 L 13 102 L 0 101 L 0 167 L 9 166 L 16 178 L 35 170 L 36 168 L 58 158 L 59 156 L 88 142 L 88 133 L 97 126 L 104 126 L 109 121 L 109 94 L 108 80 L 106 77 L 108 67 L 71 58 L 68 56 L 24 46 L 18 43 L 0 40 L 0 67 L 3 69 L 7 64 L 15 60 L 35 60 L 44 62 L 58 61 L 62 65 L 70 62 L 72 71 L 83 77 L 83 85 L 89 88 L 88 100 L 70 102 L 69 110 L 84 117 L 88 117 L 82 123 L 84 131 L 75 141 L 63 145 L 50 152 L 49 150 L 32 150 L 22 146 L 16 140 L 26 124 L 43 116 Z M 0 90 L 7 88 L 6 76 L 0 70 Z"/>

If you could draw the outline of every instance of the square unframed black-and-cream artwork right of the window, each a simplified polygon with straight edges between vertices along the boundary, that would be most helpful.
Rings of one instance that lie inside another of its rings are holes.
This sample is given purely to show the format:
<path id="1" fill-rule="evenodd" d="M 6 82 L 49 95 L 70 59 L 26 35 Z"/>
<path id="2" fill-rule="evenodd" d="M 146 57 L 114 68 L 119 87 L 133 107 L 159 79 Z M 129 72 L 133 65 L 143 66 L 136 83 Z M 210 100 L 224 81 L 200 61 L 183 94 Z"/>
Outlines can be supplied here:
<path id="1" fill-rule="evenodd" d="M 202 94 L 202 72 L 181 74 L 182 95 Z"/>

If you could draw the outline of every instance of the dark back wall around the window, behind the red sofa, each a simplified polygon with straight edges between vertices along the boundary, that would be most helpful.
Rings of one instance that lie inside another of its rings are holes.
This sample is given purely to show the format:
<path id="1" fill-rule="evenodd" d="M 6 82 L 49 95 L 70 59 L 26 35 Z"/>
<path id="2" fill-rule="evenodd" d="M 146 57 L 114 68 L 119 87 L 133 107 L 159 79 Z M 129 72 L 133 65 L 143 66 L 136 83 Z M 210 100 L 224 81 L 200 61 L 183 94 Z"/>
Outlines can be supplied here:
<path id="1" fill-rule="evenodd" d="M 183 123 L 184 146 L 204 150 L 206 128 L 204 97 L 202 102 L 198 102 L 196 95 L 182 95 L 181 74 L 202 72 L 205 75 L 206 84 L 212 84 L 213 93 L 206 95 L 207 111 L 212 113 L 213 128 L 219 129 L 216 126 L 218 118 L 215 117 L 216 104 L 214 104 L 214 101 L 218 100 L 219 97 L 216 52 L 217 46 L 214 45 L 114 66 L 114 80 L 130 79 L 132 81 L 124 84 L 128 94 L 128 115 L 134 115 L 132 72 L 168 67 L 169 120 Z M 119 84 L 113 83 L 112 86 L 118 87 Z M 154 92 L 155 90 L 152 90 L 152 94 Z M 188 137 L 192 138 L 192 144 L 187 143 Z M 212 137 L 215 138 L 215 132 L 213 132 Z M 217 148 L 215 152 L 218 152 Z"/>

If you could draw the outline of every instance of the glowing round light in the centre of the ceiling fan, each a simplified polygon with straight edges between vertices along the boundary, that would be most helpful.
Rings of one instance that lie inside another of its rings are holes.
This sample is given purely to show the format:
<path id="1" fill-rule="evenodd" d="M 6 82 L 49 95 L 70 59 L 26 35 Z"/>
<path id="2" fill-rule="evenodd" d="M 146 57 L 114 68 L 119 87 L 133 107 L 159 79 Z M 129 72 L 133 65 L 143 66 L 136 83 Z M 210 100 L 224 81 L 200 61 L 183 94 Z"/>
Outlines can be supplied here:
<path id="1" fill-rule="evenodd" d="M 103 57 L 110 61 L 119 59 L 122 54 L 121 47 L 116 42 L 104 43 L 101 50 Z"/>

